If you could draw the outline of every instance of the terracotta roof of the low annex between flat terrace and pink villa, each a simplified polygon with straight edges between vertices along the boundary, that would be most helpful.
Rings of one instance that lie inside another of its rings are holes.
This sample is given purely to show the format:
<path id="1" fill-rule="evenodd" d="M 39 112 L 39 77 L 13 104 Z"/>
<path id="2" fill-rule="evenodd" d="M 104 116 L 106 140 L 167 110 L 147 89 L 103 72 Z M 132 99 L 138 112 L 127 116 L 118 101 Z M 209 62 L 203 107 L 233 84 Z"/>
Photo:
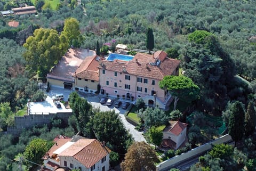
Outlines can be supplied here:
<path id="1" fill-rule="evenodd" d="M 80 64 L 73 76 L 99 81 L 98 66 L 101 60 L 98 55 L 88 56 Z"/>

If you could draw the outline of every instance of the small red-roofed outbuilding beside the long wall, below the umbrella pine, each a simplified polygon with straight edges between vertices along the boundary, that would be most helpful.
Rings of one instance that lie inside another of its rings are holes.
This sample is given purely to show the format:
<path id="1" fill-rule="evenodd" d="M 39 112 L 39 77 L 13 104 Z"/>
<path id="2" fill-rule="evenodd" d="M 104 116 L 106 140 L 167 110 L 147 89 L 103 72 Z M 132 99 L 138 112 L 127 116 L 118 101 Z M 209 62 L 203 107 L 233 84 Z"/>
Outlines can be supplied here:
<path id="1" fill-rule="evenodd" d="M 170 125 L 163 130 L 163 147 L 178 149 L 179 146 L 186 140 L 187 125 L 181 121 L 169 121 Z"/>

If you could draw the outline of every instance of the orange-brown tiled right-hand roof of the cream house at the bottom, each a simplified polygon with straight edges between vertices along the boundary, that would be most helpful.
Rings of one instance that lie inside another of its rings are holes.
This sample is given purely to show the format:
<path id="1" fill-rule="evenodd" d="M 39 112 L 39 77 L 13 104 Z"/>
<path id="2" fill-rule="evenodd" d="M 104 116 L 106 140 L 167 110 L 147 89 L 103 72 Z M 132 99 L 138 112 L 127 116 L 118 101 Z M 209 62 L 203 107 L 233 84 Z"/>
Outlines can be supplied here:
<path id="1" fill-rule="evenodd" d="M 75 154 L 74 158 L 85 167 L 90 168 L 103 157 L 107 156 L 109 152 L 110 150 L 106 146 L 102 146 L 98 140 L 94 139 L 90 144 Z"/>

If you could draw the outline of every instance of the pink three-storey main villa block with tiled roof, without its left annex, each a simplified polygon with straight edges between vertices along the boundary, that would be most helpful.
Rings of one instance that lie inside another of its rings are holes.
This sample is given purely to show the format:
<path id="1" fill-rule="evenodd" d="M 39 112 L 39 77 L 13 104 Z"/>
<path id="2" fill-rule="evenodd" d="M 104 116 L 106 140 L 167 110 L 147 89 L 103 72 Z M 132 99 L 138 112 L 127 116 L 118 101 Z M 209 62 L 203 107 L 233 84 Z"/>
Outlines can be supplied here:
<path id="1" fill-rule="evenodd" d="M 129 61 L 103 60 L 98 67 L 100 93 L 129 100 L 142 97 L 146 105 L 166 109 L 173 98 L 158 83 L 164 76 L 179 75 L 179 64 L 164 51 L 137 53 Z"/>

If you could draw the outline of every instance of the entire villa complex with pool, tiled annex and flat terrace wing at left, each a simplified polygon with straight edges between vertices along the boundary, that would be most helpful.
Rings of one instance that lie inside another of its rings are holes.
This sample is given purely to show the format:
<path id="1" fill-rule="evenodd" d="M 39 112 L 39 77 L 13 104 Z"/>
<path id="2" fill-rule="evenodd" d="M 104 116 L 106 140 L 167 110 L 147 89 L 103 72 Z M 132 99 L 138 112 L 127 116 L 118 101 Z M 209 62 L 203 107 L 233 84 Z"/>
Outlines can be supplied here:
<path id="1" fill-rule="evenodd" d="M 146 105 L 166 109 L 172 96 L 158 83 L 164 76 L 178 76 L 179 64 L 180 60 L 168 58 L 164 51 L 135 56 L 110 53 L 105 59 L 92 51 L 70 49 L 46 78 L 50 86 L 100 91 L 131 101 L 141 97 Z"/>

